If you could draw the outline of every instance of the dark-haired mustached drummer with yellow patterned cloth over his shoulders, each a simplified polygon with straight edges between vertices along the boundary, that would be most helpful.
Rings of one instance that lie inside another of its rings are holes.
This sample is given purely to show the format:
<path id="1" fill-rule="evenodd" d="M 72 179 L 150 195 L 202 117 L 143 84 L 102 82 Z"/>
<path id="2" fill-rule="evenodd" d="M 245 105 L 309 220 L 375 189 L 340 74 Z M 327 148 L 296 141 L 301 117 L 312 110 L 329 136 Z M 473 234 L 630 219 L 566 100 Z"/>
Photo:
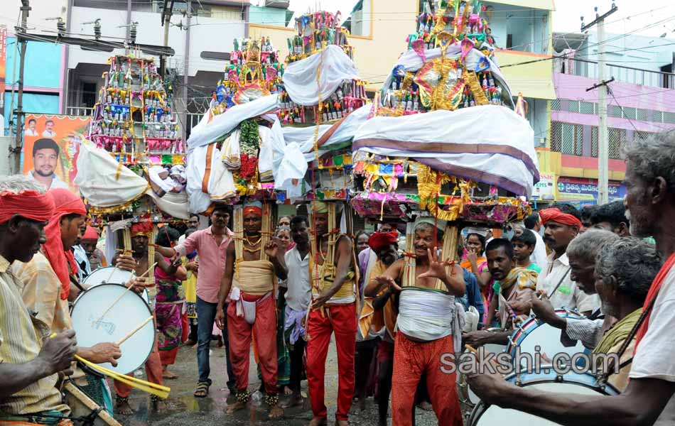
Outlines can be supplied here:
<path id="1" fill-rule="evenodd" d="M 536 290 L 536 271 L 516 266 L 514 249 L 507 239 L 493 239 L 487 244 L 487 268 L 490 275 L 499 282 L 498 293 L 493 297 L 499 300 L 497 318 L 502 324 L 502 332 L 480 330 L 463 335 L 466 344 L 507 344 L 512 334 L 514 320 L 519 315 L 527 315 L 529 309 L 519 309 L 517 300 L 529 300 Z"/>

